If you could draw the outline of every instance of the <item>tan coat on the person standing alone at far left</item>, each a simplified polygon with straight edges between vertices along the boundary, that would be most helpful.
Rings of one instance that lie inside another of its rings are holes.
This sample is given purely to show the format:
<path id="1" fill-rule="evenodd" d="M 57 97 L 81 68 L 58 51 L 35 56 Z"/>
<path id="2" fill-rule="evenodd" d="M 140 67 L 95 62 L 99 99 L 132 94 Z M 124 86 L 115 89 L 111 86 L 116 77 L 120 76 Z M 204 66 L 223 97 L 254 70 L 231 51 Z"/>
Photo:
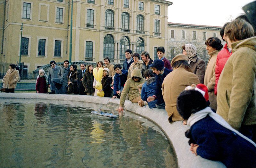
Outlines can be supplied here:
<path id="1" fill-rule="evenodd" d="M 19 71 L 16 69 L 8 69 L 3 78 L 3 88 L 15 89 L 17 82 L 20 80 Z"/>

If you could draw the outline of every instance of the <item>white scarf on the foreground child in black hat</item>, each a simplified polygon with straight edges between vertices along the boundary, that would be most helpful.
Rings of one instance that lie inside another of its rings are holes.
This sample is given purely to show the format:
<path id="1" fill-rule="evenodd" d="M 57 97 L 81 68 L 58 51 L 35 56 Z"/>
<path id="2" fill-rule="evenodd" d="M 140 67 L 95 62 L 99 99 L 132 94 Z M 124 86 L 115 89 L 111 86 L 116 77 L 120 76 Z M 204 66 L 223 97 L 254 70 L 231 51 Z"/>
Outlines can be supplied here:
<path id="1" fill-rule="evenodd" d="M 232 128 L 228 124 L 227 121 L 225 121 L 222 117 L 220 117 L 220 115 L 214 113 L 210 107 L 206 107 L 203 110 L 200 110 L 196 113 L 191 114 L 191 116 L 188 118 L 188 121 L 187 121 L 188 126 L 194 125 L 197 121 L 205 118 L 207 115 L 209 115 L 212 119 L 214 119 L 221 126 L 233 131 L 234 133 L 238 134 L 239 136 L 241 136 L 245 140 L 251 142 L 256 147 L 256 144 L 252 140 L 250 140 L 249 138 L 247 138 L 246 136 L 244 136 L 243 134 L 239 133 L 234 128 Z"/>

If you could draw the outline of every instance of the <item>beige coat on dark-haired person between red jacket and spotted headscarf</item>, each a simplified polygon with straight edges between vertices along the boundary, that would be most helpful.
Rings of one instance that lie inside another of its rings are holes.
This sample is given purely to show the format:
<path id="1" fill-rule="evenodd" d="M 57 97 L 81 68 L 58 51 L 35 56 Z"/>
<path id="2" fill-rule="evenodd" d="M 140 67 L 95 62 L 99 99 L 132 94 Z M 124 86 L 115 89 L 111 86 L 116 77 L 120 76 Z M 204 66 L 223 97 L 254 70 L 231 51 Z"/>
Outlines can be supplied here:
<path id="1" fill-rule="evenodd" d="M 217 55 L 220 50 L 215 50 L 209 53 L 210 58 L 206 65 L 206 70 L 204 74 L 204 85 L 208 88 L 210 107 L 214 110 L 217 110 L 217 96 L 214 94 L 214 86 L 215 86 L 215 65 Z"/>

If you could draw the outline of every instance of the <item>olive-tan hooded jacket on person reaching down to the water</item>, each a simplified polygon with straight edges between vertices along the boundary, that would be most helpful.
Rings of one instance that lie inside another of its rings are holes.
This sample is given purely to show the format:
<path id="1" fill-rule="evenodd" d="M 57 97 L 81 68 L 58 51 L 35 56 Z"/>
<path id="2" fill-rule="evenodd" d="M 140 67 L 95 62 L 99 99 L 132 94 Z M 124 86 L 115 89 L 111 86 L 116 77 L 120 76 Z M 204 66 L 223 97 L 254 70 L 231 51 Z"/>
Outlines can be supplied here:
<path id="1" fill-rule="evenodd" d="M 140 80 L 138 80 L 137 82 L 135 82 L 132 77 L 139 77 Z M 135 97 L 140 96 L 139 93 L 139 89 L 138 89 L 138 85 L 140 85 L 141 83 L 144 83 L 146 81 L 146 79 L 144 79 L 142 77 L 142 74 L 140 72 L 140 69 L 134 69 L 132 71 L 132 77 L 129 78 L 128 80 L 126 80 L 125 84 L 124 84 L 124 89 L 121 93 L 121 97 L 120 97 L 120 106 L 124 107 L 124 101 L 125 101 L 125 97 L 128 93 L 128 97 L 129 100 L 133 100 Z"/>

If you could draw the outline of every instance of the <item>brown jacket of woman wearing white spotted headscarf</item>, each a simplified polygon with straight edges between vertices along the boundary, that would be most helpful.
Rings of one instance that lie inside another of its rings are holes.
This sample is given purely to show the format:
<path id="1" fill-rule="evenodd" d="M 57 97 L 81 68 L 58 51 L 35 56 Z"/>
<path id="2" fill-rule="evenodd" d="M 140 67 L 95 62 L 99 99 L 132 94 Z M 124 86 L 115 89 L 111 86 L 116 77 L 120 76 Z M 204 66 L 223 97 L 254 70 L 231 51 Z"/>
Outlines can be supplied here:
<path id="1" fill-rule="evenodd" d="M 199 57 L 193 57 L 190 62 L 190 68 L 196 74 L 200 83 L 204 84 L 205 62 Z"/>

